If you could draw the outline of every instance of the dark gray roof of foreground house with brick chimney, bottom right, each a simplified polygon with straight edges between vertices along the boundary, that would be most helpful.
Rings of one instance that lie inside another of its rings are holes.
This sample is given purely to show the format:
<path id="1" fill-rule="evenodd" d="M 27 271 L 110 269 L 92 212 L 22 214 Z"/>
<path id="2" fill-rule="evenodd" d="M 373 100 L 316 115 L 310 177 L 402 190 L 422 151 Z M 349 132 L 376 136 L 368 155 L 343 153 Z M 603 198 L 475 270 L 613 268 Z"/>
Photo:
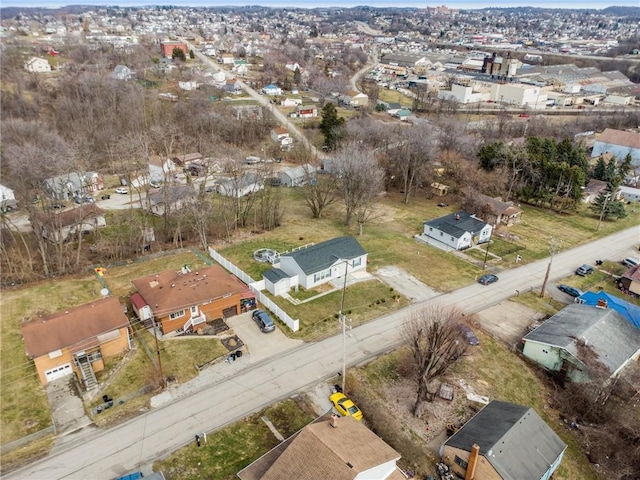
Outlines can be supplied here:
<path id="1" fill-rule="evenodd" d="M 565 443 L 530 407 L 494 400 L 445 445 L 471 451 L 476 443 L 505 480 L 542 478 Z"/>

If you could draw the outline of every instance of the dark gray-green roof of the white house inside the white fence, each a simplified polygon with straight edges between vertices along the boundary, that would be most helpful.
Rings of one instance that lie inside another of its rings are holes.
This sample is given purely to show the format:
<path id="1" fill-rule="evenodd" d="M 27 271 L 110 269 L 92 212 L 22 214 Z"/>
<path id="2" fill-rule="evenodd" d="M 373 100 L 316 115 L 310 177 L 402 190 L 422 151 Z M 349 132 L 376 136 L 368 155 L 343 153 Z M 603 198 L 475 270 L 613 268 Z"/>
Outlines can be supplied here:
<path id="1" fill-rule="evenodd" d="M 302 271 L 310 275 L 329 268 L 336 263 L 337 259 L 335 257 L 343 260 L 352 260 L 366 253 L 355 238 L 339 237 L 296 250 L 295 252 L 286 253 L 280 257 L 293 258 Z"/>

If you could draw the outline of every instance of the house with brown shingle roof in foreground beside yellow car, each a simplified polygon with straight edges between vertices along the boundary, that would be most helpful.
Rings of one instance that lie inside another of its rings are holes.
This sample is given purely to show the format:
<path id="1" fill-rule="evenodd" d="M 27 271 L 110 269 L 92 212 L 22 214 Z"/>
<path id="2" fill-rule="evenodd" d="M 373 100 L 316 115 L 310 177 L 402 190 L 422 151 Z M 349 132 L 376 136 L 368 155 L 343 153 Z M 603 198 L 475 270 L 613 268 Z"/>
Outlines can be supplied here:
<path id="1" fill-rule="evenodd" d="M 241 480 L 403 480 L 400 454 L 353 417 L 321 417 L 237 473 Z"/>

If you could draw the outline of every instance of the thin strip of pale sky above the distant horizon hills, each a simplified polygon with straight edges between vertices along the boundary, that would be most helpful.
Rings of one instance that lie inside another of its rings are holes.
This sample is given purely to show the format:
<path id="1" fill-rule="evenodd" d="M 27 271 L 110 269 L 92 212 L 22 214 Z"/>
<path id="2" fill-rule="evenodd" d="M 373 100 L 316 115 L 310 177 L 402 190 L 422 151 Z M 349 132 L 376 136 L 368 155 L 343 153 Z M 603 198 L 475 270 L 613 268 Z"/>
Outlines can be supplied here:
<path id="1" fill-rule="evenodd" d="M 606 8 L 611 5 L 639 7 L 640 0 L 438 0 L 433 2 L 417 0 L 175 0 L 164 3 L 153 3 L 148 0 L 0 0 L 0 6 L 24 6 L 24 7 L 61 7 L 64 5 L 118 5 L 118 6 L 143 6 L 143 5 L 175 5 L 175 6 L 222 6 L 222 5 L 262 5 L 265 7 L 353 7 L 356 5 L 369 5 L 372 7 L 417 7 L 425 8 L 446 5 L 449 8 L 485 8 L 485 7 L 546 7 L 546 8 Z"/>

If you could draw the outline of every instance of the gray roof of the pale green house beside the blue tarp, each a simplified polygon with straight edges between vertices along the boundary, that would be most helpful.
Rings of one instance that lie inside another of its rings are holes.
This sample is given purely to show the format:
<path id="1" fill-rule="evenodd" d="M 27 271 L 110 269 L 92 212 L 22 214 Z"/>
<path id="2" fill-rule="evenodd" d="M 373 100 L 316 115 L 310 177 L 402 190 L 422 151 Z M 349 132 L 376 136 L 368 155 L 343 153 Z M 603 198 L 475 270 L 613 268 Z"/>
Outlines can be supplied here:
<path id="1" fill-rule="evenodd" d="M 572 304 L 524 336 L 564 348 L 576 358 L 576 340 L 584 340 L 598 354 L 598 360 L 615 372 L 640 349 L 640 330 L 610 308 Z"/>

